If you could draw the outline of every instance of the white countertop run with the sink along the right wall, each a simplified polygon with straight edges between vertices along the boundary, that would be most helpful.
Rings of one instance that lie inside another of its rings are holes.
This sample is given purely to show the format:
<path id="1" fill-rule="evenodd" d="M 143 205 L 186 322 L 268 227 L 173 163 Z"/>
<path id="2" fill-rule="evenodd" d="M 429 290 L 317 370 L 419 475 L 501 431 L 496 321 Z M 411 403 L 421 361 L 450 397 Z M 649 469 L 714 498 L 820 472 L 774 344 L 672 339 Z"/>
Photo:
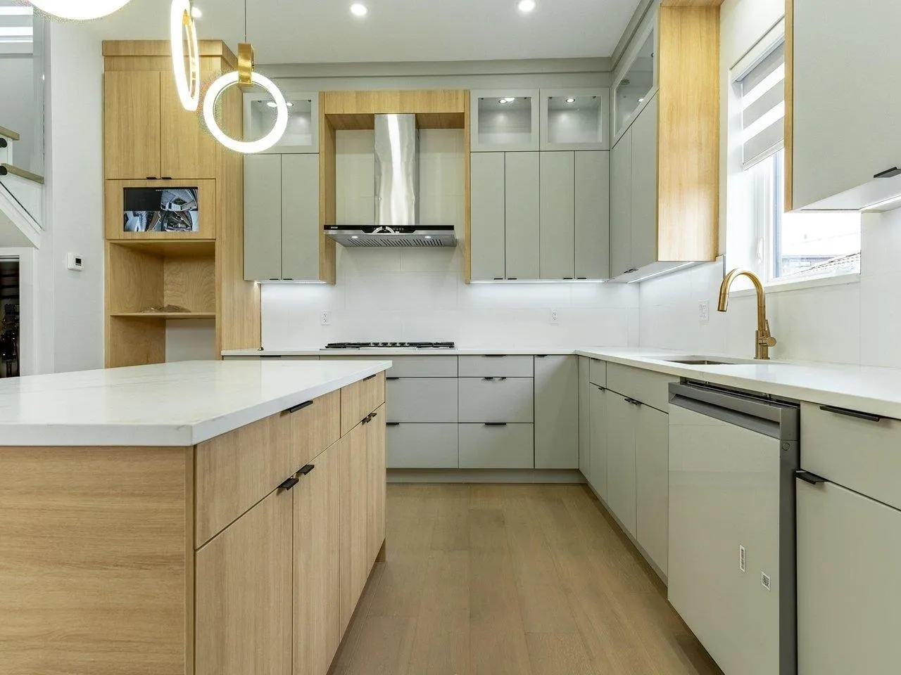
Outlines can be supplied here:
<path id="1" fill-rule="evenodd" d="M 669 363 L 666 359 L 697 355 L 646 348 L 589 347 L 577 349 L 576 353 L 734 389 L 901 419 L 901 369 L 898 368 L 751 359 L 736 359 L 741 363 L 729 365 L 685 365 Z M 735 358 L 702 355 L 707 356 Z"/>

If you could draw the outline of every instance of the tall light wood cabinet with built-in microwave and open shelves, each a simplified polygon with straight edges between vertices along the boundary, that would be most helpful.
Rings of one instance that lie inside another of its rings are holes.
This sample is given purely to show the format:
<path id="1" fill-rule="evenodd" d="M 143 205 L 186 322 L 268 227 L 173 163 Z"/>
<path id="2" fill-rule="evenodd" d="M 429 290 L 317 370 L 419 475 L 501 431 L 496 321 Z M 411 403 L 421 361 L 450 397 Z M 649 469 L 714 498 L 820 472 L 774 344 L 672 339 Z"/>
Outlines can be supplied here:
<path id="1" fill-rule="evenodd" d="M 237 66 L 222 41 L 200 44 L 205 84 Z M 209 358 L 259 347 L 259 286 L 243 270 L 243 157 L 182 108 L 168 40 L 105 41 L 103 49 L 105 364 L 166 361 L 169 322 L 179 320 L 207 329 Z M 240 138 L 241 93 L 223 94 L 219 110 L 220 126 Z M 147 205 L 154 192 L 156 208 Z M 185 194 L 196 195 L 196 207 Z M 154 219 L 135 213 L 166 211 L 162 202 L 173 199 L 188 202 L 196 225 L 141 231 Z"/>

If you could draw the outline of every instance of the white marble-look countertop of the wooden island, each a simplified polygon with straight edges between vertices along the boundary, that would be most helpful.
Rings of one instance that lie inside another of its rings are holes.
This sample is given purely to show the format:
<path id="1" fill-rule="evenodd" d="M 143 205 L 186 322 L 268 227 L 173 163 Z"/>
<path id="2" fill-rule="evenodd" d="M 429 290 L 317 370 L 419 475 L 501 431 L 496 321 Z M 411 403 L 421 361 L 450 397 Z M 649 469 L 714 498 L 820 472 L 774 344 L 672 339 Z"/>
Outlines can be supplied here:
<path id="1" fill-rule="evenodd" d="M 0 445 L 193 446 L 390 367 L 190 361 L 4 379 Z"/>

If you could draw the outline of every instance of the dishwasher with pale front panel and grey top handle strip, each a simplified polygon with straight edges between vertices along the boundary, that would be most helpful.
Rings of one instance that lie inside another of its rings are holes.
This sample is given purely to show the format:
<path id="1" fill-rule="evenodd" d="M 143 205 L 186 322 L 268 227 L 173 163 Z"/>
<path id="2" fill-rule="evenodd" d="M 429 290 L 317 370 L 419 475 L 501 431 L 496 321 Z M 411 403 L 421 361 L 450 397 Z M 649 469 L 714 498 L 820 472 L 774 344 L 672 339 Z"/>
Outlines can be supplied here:
<path id="1" fill-rule="evenodd" d="M 796 403 L 669 385 L 669 602 L 725 675 L 797 672 Z"/>

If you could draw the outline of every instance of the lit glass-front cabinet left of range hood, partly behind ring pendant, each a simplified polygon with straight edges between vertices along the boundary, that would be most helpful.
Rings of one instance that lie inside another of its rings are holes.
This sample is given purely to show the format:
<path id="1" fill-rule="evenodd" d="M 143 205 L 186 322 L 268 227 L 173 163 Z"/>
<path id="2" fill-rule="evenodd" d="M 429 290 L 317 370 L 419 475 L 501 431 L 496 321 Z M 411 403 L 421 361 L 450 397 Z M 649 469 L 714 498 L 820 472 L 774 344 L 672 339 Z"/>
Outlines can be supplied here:
<path id="1" fill-rule="evenodd" d="M 282 88 L 287 101 L 287 130 L 265 152 L 288 155 L 319 152 L 319 94 Z M 276 103 L 260 87 L 244 94 L 244 140 L 265 136 L 276 121 Z"/>

